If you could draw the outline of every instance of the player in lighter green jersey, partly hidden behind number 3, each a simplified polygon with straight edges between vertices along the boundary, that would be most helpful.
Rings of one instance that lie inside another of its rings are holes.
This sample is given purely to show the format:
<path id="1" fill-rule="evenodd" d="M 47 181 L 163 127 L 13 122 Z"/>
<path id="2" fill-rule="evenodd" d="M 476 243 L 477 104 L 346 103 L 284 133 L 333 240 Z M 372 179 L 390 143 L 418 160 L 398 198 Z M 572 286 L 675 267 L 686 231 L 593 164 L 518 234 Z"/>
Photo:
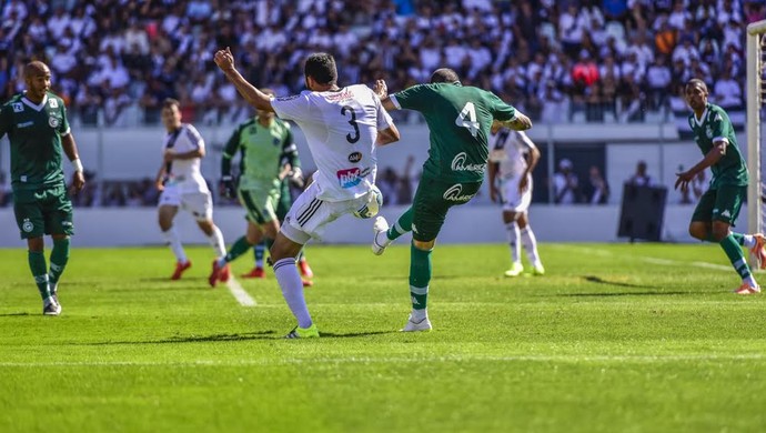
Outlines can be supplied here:
<path id="1" fill-rule="evenodd" d="M 271 89 L 262 89 L 262 92 L 274 97 Z M 232 159 L 238 152 L 239 187 L 231 174 Z M 236 195 L 246 210 L 248 229 L 245 235 L 239 238 L 226 255 L 213 266 L 209 280 L 213 286 L 218 281 L 216 270 L 248 252 L 262 239 L 271 248 L 280 231 L 276 210 L 283 192 L 282 180 L 290 178 L 302 181 L 301 162 L 290 123 L 276 118 L 273 111 L 258 110 L 258 115 L 240 124 L 226 142 L 221 159 L 221 175 L 223 195 L 230 199 Z M 309 284 L 304 281 L 304 285 Z"/>

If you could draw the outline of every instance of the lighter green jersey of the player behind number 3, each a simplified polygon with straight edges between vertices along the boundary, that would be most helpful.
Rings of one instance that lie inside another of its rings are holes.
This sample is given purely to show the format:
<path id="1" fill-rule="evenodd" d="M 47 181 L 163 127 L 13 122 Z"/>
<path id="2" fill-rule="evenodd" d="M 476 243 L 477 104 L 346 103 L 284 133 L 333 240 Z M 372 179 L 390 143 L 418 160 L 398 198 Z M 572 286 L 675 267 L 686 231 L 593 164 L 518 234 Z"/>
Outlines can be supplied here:
<path id="1" fill-rule="evenodd" d="M 270 125 L 259 123 L 258 117 L 240 124 L 226 142 L 221 173 L 231 173 L 231 159 L 241 153 L 239 188 L 268 190 L 279 184 L 284 163 L 300 167 L 298 147 L 290 124 L 274 119 Z"/>

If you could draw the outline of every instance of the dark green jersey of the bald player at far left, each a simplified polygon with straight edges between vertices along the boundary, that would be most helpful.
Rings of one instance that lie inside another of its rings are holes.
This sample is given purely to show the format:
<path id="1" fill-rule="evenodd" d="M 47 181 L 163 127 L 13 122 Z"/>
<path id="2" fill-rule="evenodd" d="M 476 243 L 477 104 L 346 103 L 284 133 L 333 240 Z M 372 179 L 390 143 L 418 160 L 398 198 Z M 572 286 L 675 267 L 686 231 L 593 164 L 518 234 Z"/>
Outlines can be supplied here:
<path id="1" fill-rule="evenodd" d="M 48 92 L 40 104 L 19 93 L 0 108 L 0 138 L 11 142 L 11 185 L 16 191 L 63 183 L 61 137 L 69 134 L 63 100 Z"/>

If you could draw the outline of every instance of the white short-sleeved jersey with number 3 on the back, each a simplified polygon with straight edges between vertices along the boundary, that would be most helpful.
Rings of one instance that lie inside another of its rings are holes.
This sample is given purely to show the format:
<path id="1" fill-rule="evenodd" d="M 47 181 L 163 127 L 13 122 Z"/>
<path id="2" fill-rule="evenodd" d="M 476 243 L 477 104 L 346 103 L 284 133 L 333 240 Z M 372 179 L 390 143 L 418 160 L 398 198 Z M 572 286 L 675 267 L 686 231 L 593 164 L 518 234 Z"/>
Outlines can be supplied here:
<path id="1" fill-rule="evenodd" d="M 377 131 L 393 124 L 372 89 L 355 84 L 337 91 L 303 91 L 272 99 L 271 105 L 276 115 L 303 130 L 316 163 L 319 199 L 343 201 L 370 192 L 377 172 Z"/>

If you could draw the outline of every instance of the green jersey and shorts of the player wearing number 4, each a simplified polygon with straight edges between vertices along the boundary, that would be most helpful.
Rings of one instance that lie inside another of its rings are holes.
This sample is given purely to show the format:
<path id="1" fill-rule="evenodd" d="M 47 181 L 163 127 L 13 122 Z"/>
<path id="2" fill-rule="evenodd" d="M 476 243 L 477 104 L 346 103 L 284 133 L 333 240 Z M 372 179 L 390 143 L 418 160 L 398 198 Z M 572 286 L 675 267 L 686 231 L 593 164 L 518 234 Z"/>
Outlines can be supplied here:
<path id="1" fill-rule="evenodd" d="M 420 111 L 431 131 L 429 159 L 413 199 L 413 238 L 431 241 L 447 210 L 467 203 L 484 180 L 493 119 L 512 120 L 516 110 L 494 93 L 455 83 L 430 83 L 396 92 L 402 109 Z"/>

